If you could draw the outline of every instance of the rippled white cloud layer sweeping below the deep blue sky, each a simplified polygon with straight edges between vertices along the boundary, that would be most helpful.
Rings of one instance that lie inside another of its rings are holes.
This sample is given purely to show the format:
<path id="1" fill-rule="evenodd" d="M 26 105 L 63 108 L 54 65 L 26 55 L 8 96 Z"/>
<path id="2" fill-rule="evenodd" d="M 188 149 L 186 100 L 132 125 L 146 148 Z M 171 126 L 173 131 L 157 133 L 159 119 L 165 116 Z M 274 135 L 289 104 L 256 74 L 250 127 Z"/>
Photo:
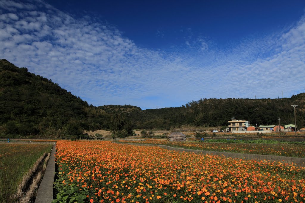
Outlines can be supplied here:
<path id="1" fill-rule="evenodd" d="M 0 58 L 42 75 L 94 105 L 180 106 L 203 97 L 300 93 L 305 20 L 289 30 L 219 50 L 198 41 L 172 52 L 138 47 L 113 26 L 43 1 L 0 2 Z M 198 47 L 200 47 L 198 49 Z M 183 51 L 182 51 L 183 50 Z M 192 53 L 192 54 L 188 54 Z"/>

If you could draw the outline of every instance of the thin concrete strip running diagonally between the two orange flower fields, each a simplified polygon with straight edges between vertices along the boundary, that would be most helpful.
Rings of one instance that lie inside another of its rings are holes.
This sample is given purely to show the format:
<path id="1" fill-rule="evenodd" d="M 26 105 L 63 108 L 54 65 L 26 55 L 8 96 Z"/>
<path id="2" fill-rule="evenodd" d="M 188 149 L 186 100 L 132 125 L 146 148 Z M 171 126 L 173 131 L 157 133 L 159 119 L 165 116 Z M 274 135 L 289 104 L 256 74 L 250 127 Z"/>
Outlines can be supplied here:
<path id="1" fill-rule="evenodd" d="M 215 152 L 215 151 L 204 151 L 204 150 L 195 150 L 195 149 L 183 149 L 183 148 L 174 148 L 167 145 L 149 145 L 149 144 L 138 144 L 138 143 L 126 143 L 126 142 L 115 142 L 117 144 L 129 144 L 129 145 L 138 145 L 138 146 L 158 146 L 163 149 L 170 149 L 179 152 L 194 152 L 196 154 L 213 154 L 213 155 L 224 155 L 225 157 L 238 158 L 238 159 L 257 159 L 257 160 L 266 160 L 266 161 L 280 161 L 284 163 L 296 163 L 298 166 L 305 167 L 305 158 L 290 157 L 290 156 L 274 156 L 274 155 L 261 155 L 261 154 L 243 154 L 243 153 L 234 153 L 234 152 Z"/>

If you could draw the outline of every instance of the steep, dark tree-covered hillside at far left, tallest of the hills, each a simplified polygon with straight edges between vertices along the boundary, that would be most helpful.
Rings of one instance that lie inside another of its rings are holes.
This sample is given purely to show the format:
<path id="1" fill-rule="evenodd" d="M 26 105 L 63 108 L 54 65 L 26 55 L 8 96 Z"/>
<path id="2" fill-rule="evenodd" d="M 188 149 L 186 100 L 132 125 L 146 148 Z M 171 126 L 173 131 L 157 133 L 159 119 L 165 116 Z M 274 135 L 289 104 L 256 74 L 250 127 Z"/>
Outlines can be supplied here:
<path id="1" fill-rule="evenodd" d="M 0 125 L 15 122 L 8 124 L 6 134 L 59 137 L 59 129 L 71 119 L 86 120 L 83 108 L 87 102 L 5 59 L 0 60 L 0 89 Z"/>

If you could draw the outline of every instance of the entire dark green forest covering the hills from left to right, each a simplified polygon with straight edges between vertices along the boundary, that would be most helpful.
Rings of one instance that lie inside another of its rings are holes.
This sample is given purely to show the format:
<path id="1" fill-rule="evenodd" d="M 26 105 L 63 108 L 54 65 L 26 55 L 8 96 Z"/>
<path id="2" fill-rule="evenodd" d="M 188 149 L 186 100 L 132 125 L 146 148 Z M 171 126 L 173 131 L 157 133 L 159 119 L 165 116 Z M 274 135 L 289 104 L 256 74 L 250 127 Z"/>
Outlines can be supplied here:
<path id="1" fill-rule="evenodd" d="M 111 130 L 127 136 L 132 129 L 227 126 L 228 120 L 245 119 L 252 125 L 305 125 L 305 93 L 281 99 L 201 99 L 181 107 L 147 109 L 131 105 L 95 107 L 40 75 L 0 60 L 0 136 L 62 137 L 82 130 Z"/>

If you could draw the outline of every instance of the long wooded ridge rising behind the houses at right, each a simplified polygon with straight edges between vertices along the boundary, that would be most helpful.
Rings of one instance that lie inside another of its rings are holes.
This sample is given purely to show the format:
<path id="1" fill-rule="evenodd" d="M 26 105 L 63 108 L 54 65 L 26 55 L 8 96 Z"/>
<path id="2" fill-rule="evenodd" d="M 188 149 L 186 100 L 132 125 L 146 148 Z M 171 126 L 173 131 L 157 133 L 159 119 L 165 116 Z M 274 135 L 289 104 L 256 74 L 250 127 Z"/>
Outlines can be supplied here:
<path id="1" fill-rule="evenodd" d="M 143 110 L 152 119 L 146 120 L 147 126 L 171 124 L 178 127 L 181 124 L 194 126 L 227 126 L 231 118 L 248 120 L 252 125 L 276 125 L 278 117 L 281 124 L 294 124 L 293 101 L 296 107 L 298 128 L 305 125 L 305 93 L 281 99 L 201 99 L 192 101 L 179 108 Z M 157 121 L 157 122 L 154 122 Z M 161 122 L 162 121 L 162 122 Z M 154 123 L 156 125 L 154 125 Z M 143 126 L 144 127 L 144 126 Z M 163 126 L 164 128 L 165 126 Z"/>

